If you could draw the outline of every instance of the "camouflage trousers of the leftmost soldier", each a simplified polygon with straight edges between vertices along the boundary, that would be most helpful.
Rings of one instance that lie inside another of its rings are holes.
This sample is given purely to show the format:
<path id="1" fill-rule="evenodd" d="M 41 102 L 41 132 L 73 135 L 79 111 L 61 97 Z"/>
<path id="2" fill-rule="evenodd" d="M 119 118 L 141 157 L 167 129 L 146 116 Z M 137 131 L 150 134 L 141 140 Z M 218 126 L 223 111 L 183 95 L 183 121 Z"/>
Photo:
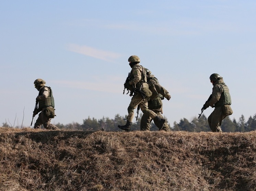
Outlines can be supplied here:
<path id="1" fill-rule="evenodd" d="M 51 118 L 49 118 L 46 115 L 45 108 L 38 114 L 38 118 L 35 122 L 34 128 L 38 129 L 41 128 L 42 125 L 44 125 L 44 128 L 46 129 L 58 129 L 54 124 L 51 124 Z"/>

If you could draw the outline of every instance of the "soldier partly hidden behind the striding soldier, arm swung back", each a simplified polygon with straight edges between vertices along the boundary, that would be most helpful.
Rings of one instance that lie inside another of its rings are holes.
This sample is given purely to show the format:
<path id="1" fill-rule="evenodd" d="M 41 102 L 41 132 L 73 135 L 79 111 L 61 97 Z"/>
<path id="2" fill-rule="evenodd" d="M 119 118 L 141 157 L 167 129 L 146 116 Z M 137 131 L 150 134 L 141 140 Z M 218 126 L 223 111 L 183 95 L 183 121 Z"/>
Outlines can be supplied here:
<path id="1" fill-rule="evenodd" d="M 163 118 L 163 102 L 162 99 L 166 98 L 167 100 L 171 99 L 170 94 L 168 91 L 159 84 L 158 79 L 151 74 L 149 69 L 145 68 L 147 73 L 147 81 L 149 84 L 149 89 L 152 92 L 152 96 L 148 101 L 148 107 L 150 110 L 154 111 L 159 117 Z M 150 115 L 143 114 L 140 121 L 140 130 L 141 131 L 149 131 L 150 130 L 150 123 L 154 121 L 155 125 L 158 126 L 158 121 L 155 121 L 150 117 Z M 165 122 L 160 130 L 170 131 L 168 124 Z"/>

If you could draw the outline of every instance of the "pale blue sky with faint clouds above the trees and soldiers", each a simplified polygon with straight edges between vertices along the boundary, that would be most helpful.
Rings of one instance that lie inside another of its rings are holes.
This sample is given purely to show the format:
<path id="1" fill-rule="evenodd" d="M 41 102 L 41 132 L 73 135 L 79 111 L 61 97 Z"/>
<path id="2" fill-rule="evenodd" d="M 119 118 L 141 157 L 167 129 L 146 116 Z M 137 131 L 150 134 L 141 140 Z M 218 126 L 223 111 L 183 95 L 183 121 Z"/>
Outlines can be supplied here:
<path id="1" fill-rule="evenodd" d="M 230 119 L 247 121 L 256 114 L 255 8 L 254 0 L 1 0 L 0 125 L 30 126 L 38 78 L 53 90 L 53 124 L 127 115 L 131 55 L 172 96 L 163 100 L 171 126 L 198 117 L 212 73 L 229 87 Z"/>

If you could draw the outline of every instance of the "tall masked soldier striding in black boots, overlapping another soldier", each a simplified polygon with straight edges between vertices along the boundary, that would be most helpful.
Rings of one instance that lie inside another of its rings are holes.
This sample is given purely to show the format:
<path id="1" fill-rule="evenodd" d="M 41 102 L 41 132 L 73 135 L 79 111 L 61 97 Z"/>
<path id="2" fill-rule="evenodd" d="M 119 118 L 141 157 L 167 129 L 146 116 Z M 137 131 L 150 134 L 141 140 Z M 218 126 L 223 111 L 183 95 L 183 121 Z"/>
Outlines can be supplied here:
<path id="1" fill-rule="evenodd" d="M 131 91 L 130 96 L 132 96 L 132 98 L 127 109 L 127 122 L 125 125 L 118 125 L 118 127 L 129 132 L 134 116 L 134 109 L 140 105 L 141 111 L 157 121 L 158 128 L 161 129 L 165 123 L 165 119 L 148 109 L 148 98 L 152 95 L 152 92 L 149 90 L 145 68 L 139 65 L 140 58 L 138 56 L 130 56 L 128 58 L 128 62 L 132 69 L 130 72 L 129 82 L 127 82 L 127 84 L 125 83 L 125 87 L 129 87 L 129 90 Z"/>

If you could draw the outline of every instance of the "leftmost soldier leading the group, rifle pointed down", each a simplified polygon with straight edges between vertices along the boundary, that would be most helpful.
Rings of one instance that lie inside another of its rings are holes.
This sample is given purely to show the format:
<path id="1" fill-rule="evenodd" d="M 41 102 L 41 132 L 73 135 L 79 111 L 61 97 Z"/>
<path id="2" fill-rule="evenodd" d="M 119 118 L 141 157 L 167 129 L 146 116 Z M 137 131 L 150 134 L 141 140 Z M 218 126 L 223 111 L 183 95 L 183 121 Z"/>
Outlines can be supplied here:
<path id="1" fill-rule="evenodd" d="M 55 125 L 51 124 L 51 118 L 54 118 L 54 97 L 53 91 L 50 87 L 45 86 L 45 81 L 43 79 L 36 79 L 34 81 L 35 88 L 39 91 L 36 101 L 38 102 L 38 109 L 33 113 L 33 117 L 39 113 L 38 118 L 35 122 L 34 128 L 41 128 L 44 125 L 46 129 L 58 129 Z"/>

